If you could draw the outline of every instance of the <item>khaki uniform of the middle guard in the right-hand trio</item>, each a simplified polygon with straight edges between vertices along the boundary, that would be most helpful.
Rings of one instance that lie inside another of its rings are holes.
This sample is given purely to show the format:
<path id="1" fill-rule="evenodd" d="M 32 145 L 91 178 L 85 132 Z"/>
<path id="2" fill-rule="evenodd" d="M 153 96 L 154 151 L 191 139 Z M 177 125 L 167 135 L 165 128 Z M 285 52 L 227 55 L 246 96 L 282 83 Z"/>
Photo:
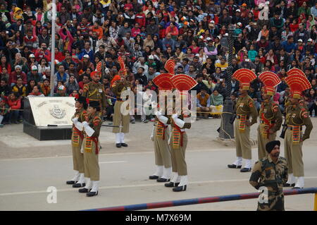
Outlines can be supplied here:
<path id="1" fill-rule="evenodd" d="M 262 159 L 268 155 L 268 152 L 266 152 L 266 144 L 275 140 L 276 132 L 280 130 L 282 114 L 278 104 L 274 103 L 273 100 L 269 100 L 268 102 L 262 102 L 259 116 L 258 154 L 259 159 Z M 269 130 L 273 130 L 273 133 L 269 133 Z"/>

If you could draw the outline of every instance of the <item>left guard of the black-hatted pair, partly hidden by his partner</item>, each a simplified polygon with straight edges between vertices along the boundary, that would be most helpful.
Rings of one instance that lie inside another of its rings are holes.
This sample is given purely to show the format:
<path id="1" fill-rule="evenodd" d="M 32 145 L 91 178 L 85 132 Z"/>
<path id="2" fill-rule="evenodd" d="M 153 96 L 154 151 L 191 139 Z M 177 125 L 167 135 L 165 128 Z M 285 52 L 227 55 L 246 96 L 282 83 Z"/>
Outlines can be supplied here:
<path id="1" fill-rule="evenodd" d="M 82 122 L 87 118 L 87 102 L 85 97 L 75 97 L 75 114 L 72 117 L 72 150 L 73 150 L 73 169 L 76 174 L 73 179 L 67 181 L 67 184 L 73 184 L 73 188 L 80 188 L 85 186 L 84 176 L 84 155 L 82 154 L 82 141 L 84 135 L 82 133 Z"/>

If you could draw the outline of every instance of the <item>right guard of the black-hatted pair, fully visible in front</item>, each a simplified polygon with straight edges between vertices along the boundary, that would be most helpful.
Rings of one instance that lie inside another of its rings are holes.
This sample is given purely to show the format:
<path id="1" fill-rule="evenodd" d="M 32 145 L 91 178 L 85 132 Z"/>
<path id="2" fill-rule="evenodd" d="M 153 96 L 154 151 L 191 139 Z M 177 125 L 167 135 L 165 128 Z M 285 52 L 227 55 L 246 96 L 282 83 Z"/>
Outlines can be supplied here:
<path id="1" fill-rule="evenodd" d="M 99 116 L 99 102 L 89 102 L 87 120 L 82 122 L 84 131 L 83 152 L 85 167 L 85 188 L 79 189 L 80 193 L 87 193 L 87 197 L 98 195 L 99 186 L 99 162 L 98 154 L 100 150 L 99 133 L 101 128 L 101 118 Z"/>

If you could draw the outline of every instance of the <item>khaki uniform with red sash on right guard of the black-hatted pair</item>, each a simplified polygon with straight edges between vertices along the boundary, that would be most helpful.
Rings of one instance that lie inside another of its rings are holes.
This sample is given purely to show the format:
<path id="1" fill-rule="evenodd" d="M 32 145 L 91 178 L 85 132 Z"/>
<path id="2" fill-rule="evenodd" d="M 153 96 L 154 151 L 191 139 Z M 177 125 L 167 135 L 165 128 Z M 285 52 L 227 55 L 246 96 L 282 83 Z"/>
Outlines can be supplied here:
<path id="1" fill-rule="evenodd" d="M 88 137 L 84 132 L 85 139 L 82 147 L 84 148 L 85 177 L 90 178 L 91 181 L 99 181 L 98 154 L 100 147 L 98 138 L 102 121 L 98 113 L 88 115 L 86 121 L 94 129 L 94 133 Z"/>

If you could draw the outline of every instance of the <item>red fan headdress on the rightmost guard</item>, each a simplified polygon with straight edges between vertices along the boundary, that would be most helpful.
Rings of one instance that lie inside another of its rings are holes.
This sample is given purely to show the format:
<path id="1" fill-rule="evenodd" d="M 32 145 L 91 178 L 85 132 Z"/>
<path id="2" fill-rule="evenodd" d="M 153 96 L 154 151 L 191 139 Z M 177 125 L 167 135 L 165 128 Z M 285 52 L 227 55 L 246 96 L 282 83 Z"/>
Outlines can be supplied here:
<path id="1" fill-rule="evenodd" d="M 311 88 L 311 83 L 306 78 L 306 76 L 302 75 L 290 75 L 285 78 L 285 82 L 287 83 L 288 87 L 292 92 L 292 97 L 294 99 L 300 99 L 302 92 L 304 90 Z"/>

